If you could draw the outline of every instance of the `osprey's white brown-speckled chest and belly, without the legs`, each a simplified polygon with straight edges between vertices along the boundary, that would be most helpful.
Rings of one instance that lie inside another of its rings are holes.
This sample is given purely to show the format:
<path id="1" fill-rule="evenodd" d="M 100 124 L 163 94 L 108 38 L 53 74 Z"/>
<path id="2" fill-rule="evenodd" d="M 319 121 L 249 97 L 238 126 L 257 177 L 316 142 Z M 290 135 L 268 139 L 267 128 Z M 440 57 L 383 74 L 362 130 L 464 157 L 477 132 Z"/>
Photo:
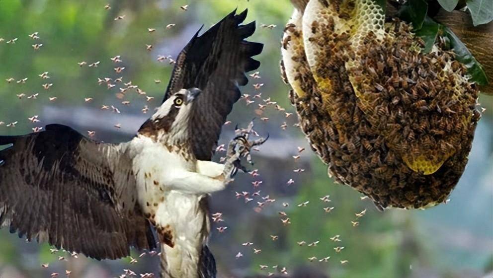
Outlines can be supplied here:
<path id="1" fill-rule="evenodd" d="M 179 151 L 147 137 L 139 136 L 132 144 L 138 203 L 158 232 L 164 270 L 169 277 L 195 277 L 209 233 L 207 211 L 201 206 L 206 194 L 183 191 L 172 184 L 176 173 L 196 172 L 196 160 L 185 159 Z"/>

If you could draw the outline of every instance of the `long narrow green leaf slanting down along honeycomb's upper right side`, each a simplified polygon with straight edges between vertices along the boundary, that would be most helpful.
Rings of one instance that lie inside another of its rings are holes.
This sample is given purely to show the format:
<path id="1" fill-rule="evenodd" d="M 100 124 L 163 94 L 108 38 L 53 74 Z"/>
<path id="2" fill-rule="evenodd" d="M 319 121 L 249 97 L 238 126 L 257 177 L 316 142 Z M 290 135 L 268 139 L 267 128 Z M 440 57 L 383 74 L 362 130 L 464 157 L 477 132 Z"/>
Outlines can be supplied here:
<path id="1" fill-rule="evenodd" d="M 478 85 L 488 85 L 488 77 L 481 64 L 476 60 L 464 43 L 447 27 L 443 28 L 443 35 L 450 40 L 450 46 L 453 48 L 457 61 L 464 64 L 467 73 L 471 75 L 472 81 Z"/>

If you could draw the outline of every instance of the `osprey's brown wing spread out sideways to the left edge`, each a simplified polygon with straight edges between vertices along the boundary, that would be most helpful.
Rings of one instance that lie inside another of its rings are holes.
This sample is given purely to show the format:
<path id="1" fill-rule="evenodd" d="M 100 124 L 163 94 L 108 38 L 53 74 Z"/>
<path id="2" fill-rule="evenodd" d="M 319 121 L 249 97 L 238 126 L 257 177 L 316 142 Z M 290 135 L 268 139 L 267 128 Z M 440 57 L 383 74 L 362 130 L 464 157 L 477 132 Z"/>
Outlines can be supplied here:
<path id="1" fill-rule="evenodd" d="M 125 143 L 84 138 L 62 125 L 0 136 L 0 225 L 28 240 L 95 259 L 153 249 L 149 221 L 136 206 Z"/>

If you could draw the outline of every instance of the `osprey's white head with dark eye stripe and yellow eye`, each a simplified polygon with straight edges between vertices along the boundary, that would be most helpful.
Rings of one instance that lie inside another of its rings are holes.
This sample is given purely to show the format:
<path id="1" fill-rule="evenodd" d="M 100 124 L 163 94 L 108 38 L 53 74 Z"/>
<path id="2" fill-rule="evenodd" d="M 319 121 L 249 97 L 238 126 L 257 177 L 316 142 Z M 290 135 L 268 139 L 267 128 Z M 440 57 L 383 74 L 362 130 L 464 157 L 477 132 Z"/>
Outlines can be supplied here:
<path id="1" fill-rule="evenodd" d="M 144 126 L 151 128 L 164 137 L 186 136 L 188 119 L 192 106 L 201 90 L 198 88 L 181 89 L 171 95 L 158 108 L 156 113 L 149 119 Z M 141 130 L 144 128 L 141 127 Z"/>

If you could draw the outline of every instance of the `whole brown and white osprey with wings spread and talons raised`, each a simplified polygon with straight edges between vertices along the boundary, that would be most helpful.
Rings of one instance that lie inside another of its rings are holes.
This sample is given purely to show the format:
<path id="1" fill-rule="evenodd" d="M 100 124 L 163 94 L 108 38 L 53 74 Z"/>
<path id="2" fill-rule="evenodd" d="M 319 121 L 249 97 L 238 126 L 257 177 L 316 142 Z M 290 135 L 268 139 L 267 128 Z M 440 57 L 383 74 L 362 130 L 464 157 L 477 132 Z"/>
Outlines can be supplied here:
<path id="1" fill-rule="evenodd" d="M 95 259 L 161 244 L 163 277 L 215 277 L 206 241 L 208 194 L 224 189 L 252 145 L 247 129 L 231 141 L 225 164 L 212 162 L 221 127 L 240 98 L 251 57 L 246 10 L 226 16 L 180 52 L 163 104 L 128 142 L 98 142 L 53 124 L 0 136 L 0 224 L 28 240 Z"/>

